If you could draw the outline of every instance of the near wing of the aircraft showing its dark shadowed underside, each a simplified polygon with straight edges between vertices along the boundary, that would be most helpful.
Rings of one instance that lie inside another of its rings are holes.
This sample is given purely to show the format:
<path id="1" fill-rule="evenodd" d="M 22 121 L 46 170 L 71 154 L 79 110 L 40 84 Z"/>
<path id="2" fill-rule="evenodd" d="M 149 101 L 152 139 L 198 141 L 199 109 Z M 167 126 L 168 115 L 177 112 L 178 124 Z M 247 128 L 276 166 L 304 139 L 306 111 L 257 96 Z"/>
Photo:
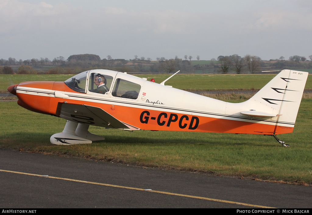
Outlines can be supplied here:
<path id="1" fill-rule="evenodd" d="M 119 121 L 101 108 L 90 105 L 59 102 L 56 109 L 56 115 L 63 119 L 82 124 L 112 129 L 140 130 L 135 126 Z"/>

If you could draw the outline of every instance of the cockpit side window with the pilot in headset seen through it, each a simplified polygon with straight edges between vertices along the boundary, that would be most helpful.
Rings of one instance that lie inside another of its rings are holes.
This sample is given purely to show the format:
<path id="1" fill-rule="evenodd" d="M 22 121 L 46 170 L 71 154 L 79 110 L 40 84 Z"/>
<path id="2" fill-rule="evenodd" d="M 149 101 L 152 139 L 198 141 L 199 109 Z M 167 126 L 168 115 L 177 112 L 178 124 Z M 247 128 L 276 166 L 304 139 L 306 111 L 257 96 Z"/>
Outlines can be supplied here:
<path id="1" fill-rule="evenodd" d="M 100 73 L 90 73 L 89 79 L 89 91 L 105 94 L 110 91 L 110 86 L 112 85 L 113 77 Z"/>

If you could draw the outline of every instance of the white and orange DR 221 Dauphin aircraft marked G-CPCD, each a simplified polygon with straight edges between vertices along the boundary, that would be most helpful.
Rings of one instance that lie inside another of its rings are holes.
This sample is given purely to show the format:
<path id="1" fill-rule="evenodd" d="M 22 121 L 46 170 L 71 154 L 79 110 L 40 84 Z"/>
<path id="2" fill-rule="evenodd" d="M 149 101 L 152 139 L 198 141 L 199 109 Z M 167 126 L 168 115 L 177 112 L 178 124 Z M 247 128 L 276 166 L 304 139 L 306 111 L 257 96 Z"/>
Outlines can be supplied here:
<path id="1" fill-rule="evenodd" d="M 176 73 L 175 73 L 176 74 Z M 174 74 L 174 75 L 175 75 Z M 172 77 L 172 76 L 171 76 Z M 308 72 L 283 70 L 251 99 L 229 103 L 110 70 L 90 70 L 65 82 L 22 82 L 8 87 L 18 105 L 67 119 L 56 145 L 103 137 L 90 125 L 124 130 L 166 130 L 275 135 L 291 133 Z M 101 90 L 100 90 L 101 88 Z"/>

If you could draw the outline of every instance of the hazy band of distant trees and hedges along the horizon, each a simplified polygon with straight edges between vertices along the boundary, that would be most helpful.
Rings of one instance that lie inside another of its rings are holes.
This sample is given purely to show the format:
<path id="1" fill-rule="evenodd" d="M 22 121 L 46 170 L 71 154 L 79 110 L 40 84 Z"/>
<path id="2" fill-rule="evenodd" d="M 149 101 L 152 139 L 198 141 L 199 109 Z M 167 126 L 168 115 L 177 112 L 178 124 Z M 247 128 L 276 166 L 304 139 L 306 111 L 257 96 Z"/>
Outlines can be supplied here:
<path id="1" fill-rule="evenodd" d="M 36 74 L 39 73 L 48 73 L 48 74 L 60 74 L 60 73 L 77 73 L 83 72 L 83 69 L 87 68 L 104 68 L 104 69 L 113 69 L 121 72 L 166 72 L 171 73 L 174 71 L 181 70 L 186 73 L 193 73 L 198 70 L 209 71 L 209 72 L 236 72 L 236 73 L 255 73 L 260 71 L 261 67 L 267 67 L 265 62 L 262 61 L 260 57 L 255 55 L 246 54 L 244 57 L 239 56 L 238 54 L 233 54 L 230 56 L 218 56 L 217 59 L 212 58 L 210 63 L 201 64 L 201 63 L 191 63 L 193 56 L 184 55 L 183 58 L 175 56 L 174 58 L 166 59 L 164 57 L 157 57 L 156 61 L 152 61 L 151 58 L 138 57 L 134 55 L 133 59 L 113 59 L 110 55 L 107 55 L 106 58 L 101 59 L 100 56 L 95 54 L 78 54 L 71 55 L 66 60 L 64 57 L 59 56 L 54 58 L 52 61 L 48 58 L 40 58 L 31 60 L 22 60 L 17 61 L 15 58 L 8 58 L 8 60 L 0 59 L 0 74 Z M 200 56 L 197 55 L 197 61 L 200 60 Z M 312 61 L 312 55 L 309 56 L 309 59 Z M 309 61 L 303 56 L 294 55 L 290 56 L 288 61 L 285 60 L 283 56 L 279 59 L 271 59 L 274 63 L 270 63 L 270 66 L 275 67 L 276 69 L 282 69 L 287 67 L 296 67 L 302 65 L 302 62 Z M 266 63 L 267 64 L 267 63 Z M 20 67 L 17 66 L 20 65 Z M 49 66 L 50 65 L 50 66 Z M 51 65 L 54 68 L 50 68 Z M 13 66 L 15 71 L 10 67 Z M 304 66 L 312 68 L 311 63 L 305 63 Z M 49 71 L 46 68 L 50 68 Z M 34 69 L 36 68 L 36 70 Z M 40 70 L 42 68 L 42 70 Z M 45 70 L 45 71 L 43 71 Z"/>

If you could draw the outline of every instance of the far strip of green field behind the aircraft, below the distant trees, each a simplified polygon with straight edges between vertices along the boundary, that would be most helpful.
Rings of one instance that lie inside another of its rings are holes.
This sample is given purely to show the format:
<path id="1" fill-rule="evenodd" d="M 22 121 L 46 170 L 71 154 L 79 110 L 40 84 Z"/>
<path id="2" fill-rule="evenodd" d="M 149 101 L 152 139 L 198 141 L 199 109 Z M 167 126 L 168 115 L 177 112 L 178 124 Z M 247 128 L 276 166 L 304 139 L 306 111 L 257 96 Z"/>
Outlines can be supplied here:
<path id="1" fill-rule="evenodd" d="M 170 74 L 171 75 L 171 74 Z M 161 83 L 167 79 L 168 74 L 140 74 L 147 80 L 155 79 Z M 73 75 L 0 75 L 0 91 L 6 91 L 8 86 L 25 81 L 65 81 Z M 206 91 L 206 90 L 242 90 L 261 89 L 274 74 L 177 74 L 169 79 L 165 85 L 177 89 Z M 312 89 L 312 74 L 308 76 L 305 89 Z"/>

